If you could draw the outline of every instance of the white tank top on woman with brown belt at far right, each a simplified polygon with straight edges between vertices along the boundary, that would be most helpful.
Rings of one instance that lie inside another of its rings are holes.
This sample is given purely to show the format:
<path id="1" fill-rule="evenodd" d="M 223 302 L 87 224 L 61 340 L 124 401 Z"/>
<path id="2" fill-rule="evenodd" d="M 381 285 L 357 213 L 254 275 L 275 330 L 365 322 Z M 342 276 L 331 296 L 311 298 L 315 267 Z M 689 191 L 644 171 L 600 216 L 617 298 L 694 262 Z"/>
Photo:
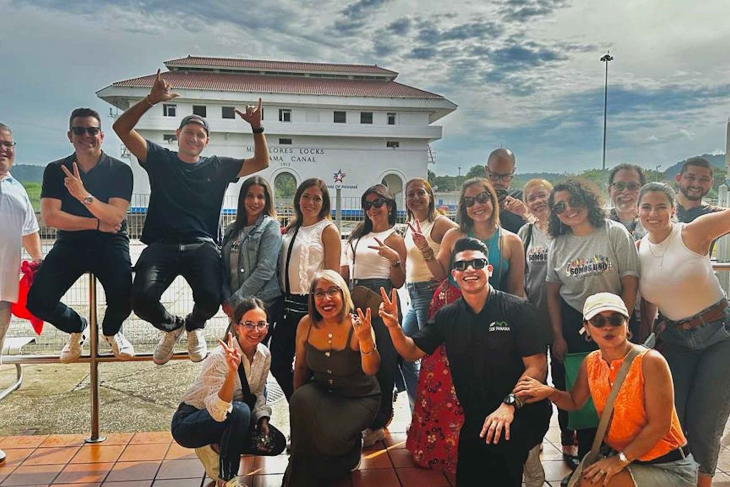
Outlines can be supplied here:
<path id="1" fill-rule="evenodd" d="M 720 301 L 725 293 L 712 272 L 710 256 L 689 250 L 682 240 L 685 223 L 675 223 L 663 242 L 646 235 L 639 245 L 639 291 L 672 321 L 696 315 Z"/>

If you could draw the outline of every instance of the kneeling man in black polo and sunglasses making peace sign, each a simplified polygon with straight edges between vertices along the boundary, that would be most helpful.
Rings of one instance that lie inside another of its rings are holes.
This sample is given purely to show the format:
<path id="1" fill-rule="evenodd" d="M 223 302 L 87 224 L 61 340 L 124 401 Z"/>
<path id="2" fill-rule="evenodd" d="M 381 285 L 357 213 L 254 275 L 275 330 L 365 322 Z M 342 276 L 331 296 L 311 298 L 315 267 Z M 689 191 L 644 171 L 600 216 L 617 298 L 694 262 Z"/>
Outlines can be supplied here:
<path id="1" fill-rule="evenodd" d="M 488 284 L 492 266 L 487 253 L 480 240 L 456 242 L 451 275 L 462 297 L 439 310 L 412 338 L 399 326 L 396 294 L 389 298 L 381 290 L 380 316 L 406 360 L 446 345 L 456 396 L 464 408 L 457 485 L 519 487 L 527 454 L 548 431 L 552 410 L 545 401 L 522 404 L 512 388 L 523 376 L 545 380 L 547 344 L 534 307 Z"/>

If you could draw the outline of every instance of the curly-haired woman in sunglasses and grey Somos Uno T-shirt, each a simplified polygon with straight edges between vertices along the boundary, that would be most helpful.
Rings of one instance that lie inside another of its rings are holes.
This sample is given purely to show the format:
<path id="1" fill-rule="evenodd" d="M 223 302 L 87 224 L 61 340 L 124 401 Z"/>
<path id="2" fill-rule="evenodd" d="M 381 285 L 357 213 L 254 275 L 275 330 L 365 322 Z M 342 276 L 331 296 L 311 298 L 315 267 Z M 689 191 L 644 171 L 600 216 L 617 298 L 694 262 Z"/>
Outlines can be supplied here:
<path id="1" fill-rule="evenodd" d="M 629 231 L 606 218 L 598 189 L 590 182 L 568 179 L 550 192 L 552 213 L 548 230 L 548 312 L 553 329 L 552 376 L 556 388 L 566 390 L 566 353 L 596 350 L 583 336 L 583 304 L 598 292 L 621 296 L 634 309 L 639 259 Z M 595 428 L 577 431 L 578 456 L 591 448 Z"/>

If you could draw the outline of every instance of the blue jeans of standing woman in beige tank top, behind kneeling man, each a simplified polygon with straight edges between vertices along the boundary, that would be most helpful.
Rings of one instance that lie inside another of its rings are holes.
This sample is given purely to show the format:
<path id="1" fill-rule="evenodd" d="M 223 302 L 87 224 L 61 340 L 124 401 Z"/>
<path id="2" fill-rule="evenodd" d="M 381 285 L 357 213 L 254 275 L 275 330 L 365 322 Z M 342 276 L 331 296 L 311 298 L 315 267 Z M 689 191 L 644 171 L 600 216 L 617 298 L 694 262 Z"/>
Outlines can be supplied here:
<path id="1" fill-rule="evenodd" d="M 423 281 L 422 283 L 406 283 L 408 296 L 410 296 L 410 306 L 403 317 L 403 332 L 408 337 L 426 326 L 426 321 L 429 318 L 429 304 L 437 287 L 439 287 L 439 283 L 432 280 Z M 418 388 L 420 360 L 415 362 L 402 361 L 400 367 L 402 377 L 397 377 L 396 386 L 399 386 L 399 391 L 402 390 L 400 387 L 402 378 L 402 385 L 405 386 L 408 393 L 408 402 L 412 413 L 416 389 Z"/>

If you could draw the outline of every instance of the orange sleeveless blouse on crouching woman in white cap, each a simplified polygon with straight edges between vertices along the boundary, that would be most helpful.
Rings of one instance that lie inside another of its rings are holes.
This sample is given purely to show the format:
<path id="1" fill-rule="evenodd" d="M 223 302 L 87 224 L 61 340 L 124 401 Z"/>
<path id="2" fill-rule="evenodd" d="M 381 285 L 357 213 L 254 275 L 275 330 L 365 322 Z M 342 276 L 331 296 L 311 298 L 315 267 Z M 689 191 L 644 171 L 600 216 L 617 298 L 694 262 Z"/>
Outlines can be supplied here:
<path id="1" fill-rule="evenodd" d="M 644 372 L 642 369 L 644 356 L 648 351 L 643 350 L 631 362 L 629 373 L 626 375 L 626 379 L 623 380 L 618 396 L 616 396 L 613 403 L 613 418 L 606 437 L 604 437 L 604 443 L 616 451 L 626 448 L 648 423 L 644 405 Z M 588 387 L 591 389 L 593 404 L 596 405 L 596 411 L 599 415 L 603 413 L 608 395 L 611 392 L 611 386 L 618 374 L 618 369 L 623 364 L 624 358 L 626 357 L 618 358 L 609 365 L 601 358 L 601 350 L 595 350 L 585 357 Z M 687 440 L 677 417 L 677 410 L 672 407 L 672 426 L 669 427 L 669 432 L 656 442 L 656 445 L 650 450 L 639 456 L 638 460 L 649 461 L 656 459 L 675 450 L 675 448 L 679 448 L 686 442 Z"/>

